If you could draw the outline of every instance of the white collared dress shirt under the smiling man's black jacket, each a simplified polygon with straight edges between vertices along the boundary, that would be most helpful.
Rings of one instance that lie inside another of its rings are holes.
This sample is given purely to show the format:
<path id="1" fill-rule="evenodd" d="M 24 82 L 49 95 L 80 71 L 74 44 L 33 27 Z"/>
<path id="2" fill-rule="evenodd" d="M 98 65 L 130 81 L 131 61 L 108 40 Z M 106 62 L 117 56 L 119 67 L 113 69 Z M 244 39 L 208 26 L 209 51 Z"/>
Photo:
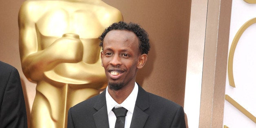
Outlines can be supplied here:
<path id="1" fill-rule="evenodd" d="M 115 113 L 112 111 L 112 108 L 118 108 L 118 107 L 124 107 L 128 110 L 125 118 L 125 124 L 124 128 L 130 128 L 130 124 L 132 121 L 132 114 L 135 107 L 135 102 L 138 95 L 138 85 L 135 82 L 135 86 L 132 90 L 132 93 L 124 100 L 123 103 L 118 104 L 115 102 L 115 100 L 109 95 L 108 93 L 108 87 L 106 88 L 106 104 L 107 104 L 107 110 L 108 110 L 108 123 L 109 128 L 115 128 L 115 121 L 116 116 Z"/>

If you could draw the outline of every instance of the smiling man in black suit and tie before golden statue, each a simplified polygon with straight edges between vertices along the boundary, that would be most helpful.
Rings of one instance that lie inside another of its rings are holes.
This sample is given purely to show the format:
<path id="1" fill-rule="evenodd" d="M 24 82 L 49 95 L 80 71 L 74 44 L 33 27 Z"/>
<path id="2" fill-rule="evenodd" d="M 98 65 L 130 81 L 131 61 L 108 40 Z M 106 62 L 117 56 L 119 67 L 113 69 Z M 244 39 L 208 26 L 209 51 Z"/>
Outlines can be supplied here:
<path id="1" fill-rule="evenodd" d="M 105 29 L 99 39 L 108 86 L 69 109 L 68 128 L 121 128 L 114 113 L 118 108 L 127 112 L 122 115 L 122 128 L 185 128 L 181 106 L 146 92 L 135 82 L 150 49 L 146 31 L 138 24 L 118 22 Z"/>

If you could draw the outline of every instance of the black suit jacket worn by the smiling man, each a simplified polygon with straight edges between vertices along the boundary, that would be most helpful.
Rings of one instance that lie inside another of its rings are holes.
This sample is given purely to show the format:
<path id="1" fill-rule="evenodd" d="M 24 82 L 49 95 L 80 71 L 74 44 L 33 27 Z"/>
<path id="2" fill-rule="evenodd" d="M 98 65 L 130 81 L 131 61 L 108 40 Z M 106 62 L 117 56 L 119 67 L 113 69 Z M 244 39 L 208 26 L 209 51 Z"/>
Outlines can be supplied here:
<path id="1" fill-rule="evenodd" d="M 139 86 L 130 128 L 185 128 L 178 104 Z M 106 90 L 68 110 L 68 128 L 109 128 Z"/>

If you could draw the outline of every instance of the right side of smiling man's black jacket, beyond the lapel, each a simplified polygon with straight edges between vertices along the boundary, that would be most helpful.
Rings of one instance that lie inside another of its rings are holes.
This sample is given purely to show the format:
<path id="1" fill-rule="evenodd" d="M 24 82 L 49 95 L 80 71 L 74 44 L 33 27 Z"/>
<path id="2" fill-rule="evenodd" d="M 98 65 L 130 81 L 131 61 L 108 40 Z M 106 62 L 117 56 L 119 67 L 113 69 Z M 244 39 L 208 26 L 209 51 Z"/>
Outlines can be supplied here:
<path id="1" fill-rule="evenodd" d="M 149 108 L 144 112 L 149 117 L 145 127 L 185 128 L 185 114 L 182 106 L 152 93 L 148 93 L 148 95 Z"/>

